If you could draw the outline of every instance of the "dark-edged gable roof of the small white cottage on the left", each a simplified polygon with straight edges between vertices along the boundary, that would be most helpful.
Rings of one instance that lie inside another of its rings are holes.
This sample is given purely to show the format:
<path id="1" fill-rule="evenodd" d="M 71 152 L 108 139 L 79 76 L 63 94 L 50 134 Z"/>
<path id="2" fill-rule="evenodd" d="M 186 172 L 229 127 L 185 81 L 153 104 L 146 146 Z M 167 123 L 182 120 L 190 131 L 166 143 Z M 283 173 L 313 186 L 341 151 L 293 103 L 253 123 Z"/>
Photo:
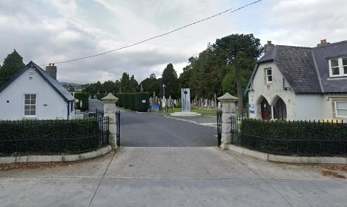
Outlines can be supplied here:
<path id="1" fill-rule="evenodd" d="M 56 79 L 50 76 L 47 72 L 45 72 L 45 70 L 43 70 L 38 65 L 36 65 L 36 63 L 33 63 L 33 61 L 30 61 L 28 64 L 26 64 L 23 70 L 18 72 L 12 79 L 10 79 L 10 81 L 8 81 L 6 84 L 1 86 L 0 93 L 4 89 L 6 89 L 6 87 L 10 85 L 13 81 L 15 81 L 17 77 L 20 77 L 20 75 L 22 75 L 22 73 L 29 68 L 36 69 L 38 74 L 41 77 L 43 77 L 43 79 L 45 79 L 45 81 L 49 84 L 49 86 L 52 86 L 52 88 L 56 91 L 56 93 L 58 93 L 61 96 L 61 98 L 63 98 L 63 100 L 65 100 L 66 102 L 75 100 L 75 98 L 71 95 L 71 93 L 68 90 L 66 90 L 61 83 L 59 83 Z"/>

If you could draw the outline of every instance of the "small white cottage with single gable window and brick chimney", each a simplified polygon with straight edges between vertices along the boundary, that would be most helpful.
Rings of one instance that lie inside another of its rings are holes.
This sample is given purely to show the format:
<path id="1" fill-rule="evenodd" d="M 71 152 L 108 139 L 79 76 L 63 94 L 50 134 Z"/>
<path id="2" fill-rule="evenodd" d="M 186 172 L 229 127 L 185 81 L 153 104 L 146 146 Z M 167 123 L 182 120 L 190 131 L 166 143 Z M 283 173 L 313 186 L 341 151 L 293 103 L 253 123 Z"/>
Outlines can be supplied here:
<path id="1" fill-rule="evenodd" d="M 30 61 L 0 88 L 0 120 L 72 119 L 73 96 L 56 81 L 56 66 L 46 71 Z"/>

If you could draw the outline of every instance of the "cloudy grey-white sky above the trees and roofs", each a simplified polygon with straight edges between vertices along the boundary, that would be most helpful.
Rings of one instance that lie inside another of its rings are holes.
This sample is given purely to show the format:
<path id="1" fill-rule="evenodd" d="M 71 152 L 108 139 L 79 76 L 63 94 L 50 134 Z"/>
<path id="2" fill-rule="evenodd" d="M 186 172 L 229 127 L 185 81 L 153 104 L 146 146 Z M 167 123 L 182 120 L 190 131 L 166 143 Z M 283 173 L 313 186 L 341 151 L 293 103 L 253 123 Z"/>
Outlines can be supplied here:
<path id="1" fill-rule="evenodd" d="M 105 52 L 238 8 L 254 0 L 0 0 L 0 60 L 16 49 L 24 63 L 65 61 Z M 93 59 L 58 65 L 58 79 L 80 84 L 160 77 L 167 63 L 178 73 L 231 33 L 253 33 L 261 43 L 314 47 L 347 39 L 345 0 L 263 0 L 169 36 Z"/>

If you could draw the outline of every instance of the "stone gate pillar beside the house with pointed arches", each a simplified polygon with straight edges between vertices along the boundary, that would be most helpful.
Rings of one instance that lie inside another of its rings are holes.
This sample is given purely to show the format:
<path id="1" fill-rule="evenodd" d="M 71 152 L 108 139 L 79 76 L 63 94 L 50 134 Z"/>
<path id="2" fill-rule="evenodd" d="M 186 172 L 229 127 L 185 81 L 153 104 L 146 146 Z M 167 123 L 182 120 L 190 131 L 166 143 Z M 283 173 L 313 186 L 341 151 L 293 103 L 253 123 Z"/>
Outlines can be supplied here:
<path id="1" fill-rule="evenodd" d="M 231 115 L 235 115 L 235 102 L 238 100 L 230 93 L 225 93 L 221 97 L 217 98 L 222 102 L 222 149 L 228 148 L 228 144 L 231 143 Z"/>

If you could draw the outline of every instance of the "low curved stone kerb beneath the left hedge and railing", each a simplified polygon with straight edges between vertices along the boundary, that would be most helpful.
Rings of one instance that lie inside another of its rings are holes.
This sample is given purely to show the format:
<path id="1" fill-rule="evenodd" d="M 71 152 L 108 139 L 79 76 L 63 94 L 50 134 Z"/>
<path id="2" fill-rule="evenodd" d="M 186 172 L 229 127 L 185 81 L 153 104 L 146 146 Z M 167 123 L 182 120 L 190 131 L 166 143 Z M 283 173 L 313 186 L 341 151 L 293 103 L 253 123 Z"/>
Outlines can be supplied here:
<path id="1" fill-rule="evenodd" d="M 72 162 L 96 158 L 105 155 L 111 151 L 111 146 L 98 148 L 95 151 L 80 153 L 76 155 L 29 155 L 29 156 L 11 156 L 0 157 L 0 164 L 13 162 Z"/>

